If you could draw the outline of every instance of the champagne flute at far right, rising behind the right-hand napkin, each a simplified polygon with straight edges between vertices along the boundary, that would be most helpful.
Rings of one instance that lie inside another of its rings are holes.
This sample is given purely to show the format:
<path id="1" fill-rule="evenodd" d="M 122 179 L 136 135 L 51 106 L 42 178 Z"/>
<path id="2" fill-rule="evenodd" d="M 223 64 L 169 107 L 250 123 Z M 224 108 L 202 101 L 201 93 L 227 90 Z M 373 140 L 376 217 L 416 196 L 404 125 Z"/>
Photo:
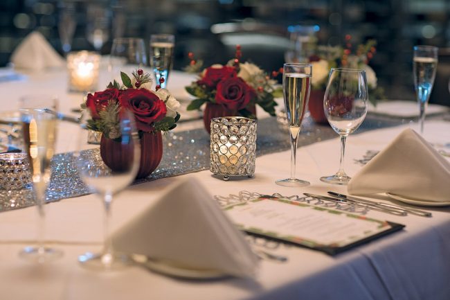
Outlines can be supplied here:
<path id="1" fill-rule="evenodd" d="M 414 87 L 420 109 L 420 134 L 424 133 L 425 109 L 438 67 L 438 47 L 414 46 Z"/>

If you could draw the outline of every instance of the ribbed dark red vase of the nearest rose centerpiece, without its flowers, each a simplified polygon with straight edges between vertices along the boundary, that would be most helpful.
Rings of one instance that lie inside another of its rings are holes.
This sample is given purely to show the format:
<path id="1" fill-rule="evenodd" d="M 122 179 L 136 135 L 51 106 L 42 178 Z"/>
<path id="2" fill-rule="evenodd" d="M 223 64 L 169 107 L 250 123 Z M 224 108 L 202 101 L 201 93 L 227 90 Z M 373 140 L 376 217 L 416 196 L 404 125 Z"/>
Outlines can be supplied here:
<path id="1" fill-rule="evenodd" d="M 102 136 L 100 140 L 100 156 L 111 170 L 127 168 L 132 148 Z M 141 161 L 136 179 L 150 175 L 163 158 L 163 137 L 161 132 L 144 132 L 141 137 Z"/>

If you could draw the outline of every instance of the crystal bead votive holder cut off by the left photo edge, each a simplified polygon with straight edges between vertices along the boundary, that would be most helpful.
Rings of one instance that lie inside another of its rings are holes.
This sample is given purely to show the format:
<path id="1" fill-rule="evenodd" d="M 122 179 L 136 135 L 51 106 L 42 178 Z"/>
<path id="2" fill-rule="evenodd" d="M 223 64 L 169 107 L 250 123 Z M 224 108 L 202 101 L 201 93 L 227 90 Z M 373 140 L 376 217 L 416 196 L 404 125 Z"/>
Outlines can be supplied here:
<path id="1" fill-rule="evenodd" d="M 17 190 L 31 182 L 28 156 L 25 153 L 0 154 L 0 188 Z"/>

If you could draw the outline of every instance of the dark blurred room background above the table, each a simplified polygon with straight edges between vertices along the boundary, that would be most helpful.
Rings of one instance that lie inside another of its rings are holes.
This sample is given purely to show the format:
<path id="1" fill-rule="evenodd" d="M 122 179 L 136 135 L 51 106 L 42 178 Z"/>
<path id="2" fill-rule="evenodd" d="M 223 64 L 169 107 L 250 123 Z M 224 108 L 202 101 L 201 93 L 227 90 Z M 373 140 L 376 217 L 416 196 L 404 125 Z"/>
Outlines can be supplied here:
<path id="1" fill-rule="evenodd" d="M 233 58 L 242 44 L 270 71 L 282 67 L 289 26 L 316 26 L 319 44 L 359 44 L 377 39 L 370 65 L 388 98 L 413 99 L 412 48 L 440 47 L 431 102 L 450 105 L 449 0 L 1 0 L 0 66 L 32 30 L 39 30 L 64 54 L 91 49 L 108 54 L 114 37 L 152 33 L 176 36 L 174 69 L 188 64 L 188 52 L 205 64 Z"/>

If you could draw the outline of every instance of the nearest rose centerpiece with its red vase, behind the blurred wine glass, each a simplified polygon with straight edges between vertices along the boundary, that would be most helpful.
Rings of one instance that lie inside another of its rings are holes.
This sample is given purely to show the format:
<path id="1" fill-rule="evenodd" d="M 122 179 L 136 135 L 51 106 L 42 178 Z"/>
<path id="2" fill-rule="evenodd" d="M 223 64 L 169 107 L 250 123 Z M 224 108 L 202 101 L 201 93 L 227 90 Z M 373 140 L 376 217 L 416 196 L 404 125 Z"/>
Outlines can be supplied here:
<path id="1" fill-rule="evenodd" d="M 105 91 L 88 94 L 82 109 L 87 109 L 91 118 L 87 120 L 89 130 L 102 133 L 100 155 L 109 168 L 120 165 L 120 112 L 128 109 L 134 114 L 141 139 L 141 166 L 137 178 L 147 177 L 159 165 L 163 156 L 161 132 L 174 129 L 180 114 L 179 102 L 167 89 L 156 86 L 156 91 L 147 89 L 151 79 L 149 73 L 138 69 L 132 78 L 120 72 L 123 84 L 110 82 Z"/>

